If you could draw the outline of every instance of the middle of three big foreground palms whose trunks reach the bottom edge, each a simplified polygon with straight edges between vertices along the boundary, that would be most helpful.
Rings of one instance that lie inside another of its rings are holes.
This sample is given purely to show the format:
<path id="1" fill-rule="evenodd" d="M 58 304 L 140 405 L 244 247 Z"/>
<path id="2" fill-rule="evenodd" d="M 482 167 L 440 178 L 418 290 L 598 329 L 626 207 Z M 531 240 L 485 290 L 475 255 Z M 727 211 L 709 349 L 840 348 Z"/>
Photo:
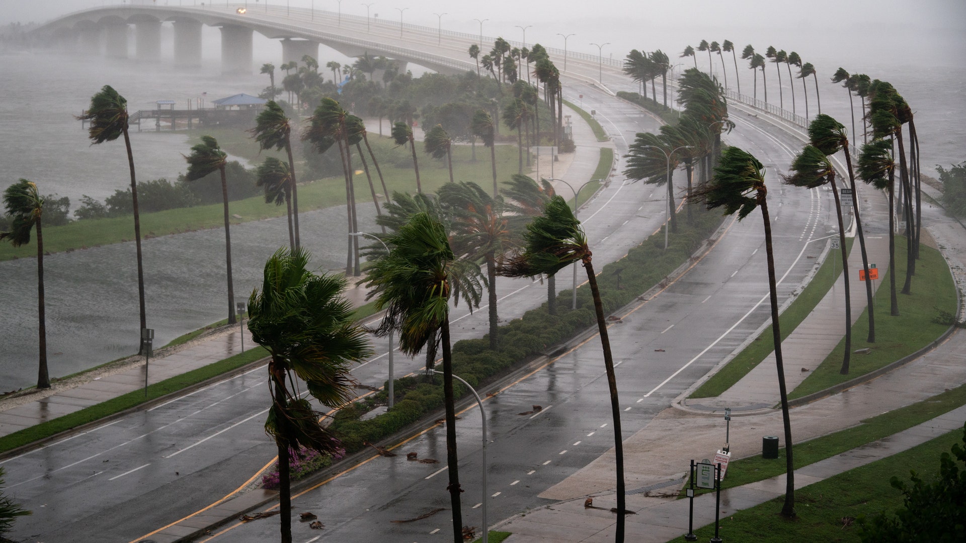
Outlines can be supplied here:
<path id="1" fill-rule="evenodd" d="M 456 409 L 453 359 L 449 339 L 449 300 L 462 297 L 478 305 L 482 289 L 479 267 L 458 259 L 446 240 L 442 223 L 426 213 L 413 214 L 385 239 L 389 253 L 370 269 L 367 286 L 376 309 L 385 309 L 377 333 L 399 330 L 399 348 L 407 355 L 423 347 L 433 349 L 437 333 L 442 348 L 442 387 L 446 411 L 446 466 L 448 467 L 453 541 L 463 541 L 459 458 L 456 450 Z"/>

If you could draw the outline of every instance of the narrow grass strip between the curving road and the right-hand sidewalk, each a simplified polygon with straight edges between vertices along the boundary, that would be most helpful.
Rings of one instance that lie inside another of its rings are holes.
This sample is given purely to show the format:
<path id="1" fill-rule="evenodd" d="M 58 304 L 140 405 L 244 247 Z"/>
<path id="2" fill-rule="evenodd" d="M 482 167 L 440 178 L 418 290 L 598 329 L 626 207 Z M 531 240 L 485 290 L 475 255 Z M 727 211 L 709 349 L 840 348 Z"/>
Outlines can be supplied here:
<path id="1" fill-rule="evenodd" d="M 851 249 L 852 242 L 855 240 L 850 238 L 845 241 L 848 248 Z M 851 256 L 851 253 L 850 253 Z M 858 253 L 856 253 L 858 256 Z M 784 341 L 800 324 L 802 321 L 808 317 L 811 312 L 818 305 L 818 302 L 825 298 L 829 290 L 832 289 L 832 285 L 835 284 L 837 276 L 833 275 L 833 269 L 836 273 L 841 272 L 841 259 L 834 259 L 832 253 L 825 259 L 822 263 L 821 268 L 815 273 L 815 276 L 811 278 L 809 284 L 802 290 L 802 293 L 798 295 L 794 301 L 792 301 L 779 317 L 779 322 L 781 323 L 781 340 Z M 853 265 L 853 268 L 854 265 Z M 886 302 L 888 303 L 888 287 L 886 290 Z M 881 292 L 881 289 L 880 289 Z M 874 300 L 874 299 L 873 299 Z M 878 301 L 876 301 L 878 303 Z M 888 312 L 888 308 L 886 309 Z M 878 315 L 878 314 L 876 314 Z M 862 319 L 859 319 L 862 321 Z M 876 326 L 878 326 L 878 319 L 876 319 Z M 844 331 L 843 331 L 844 333 Z M 858 342 L 854 341 L 854 338 L 861 337 L 865 339 L 867 332 L 865 334 L 859 335 L 856 331 L 856 327 L 852 327 L 852 337 L 853 345 Z M 863 341 L 863 344 L 865 342 Z M 735 383 L 741 381 L 748 372 L 752 371 L 754 366 L 758 365 L 762 360 L 771 355 L 775 351 L 775 340 L 772 336 L 771 325 L 768 328 L 762 330 L 761 334 L 758 335 L 755 340 L 750 343 L 741 353 L 738 353 L 735 357 L 725 364 L 725 367 L 721 368 L 716 374 L 711 376 L 710 379 L 704 382 L 703 385 L 698 386 L 694 392 L 691 393 L 689 398 L 713 398 L 720 396 Z M 839 360 L 841 357 L 839 357 Z M 860 375 L 860 374 L 855 374 Z M 855 377 L 853 375 L 852 377 Z"/>

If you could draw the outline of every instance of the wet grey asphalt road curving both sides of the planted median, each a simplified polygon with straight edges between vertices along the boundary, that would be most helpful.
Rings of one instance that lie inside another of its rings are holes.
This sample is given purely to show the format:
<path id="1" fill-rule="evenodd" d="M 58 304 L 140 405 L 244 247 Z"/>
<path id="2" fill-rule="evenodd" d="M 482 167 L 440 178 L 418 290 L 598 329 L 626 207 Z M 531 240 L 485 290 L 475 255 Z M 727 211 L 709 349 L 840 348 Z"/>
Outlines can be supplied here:
<path id="1" fill-rule="evenodd" d="M 581 93 L 584 108 L 594 107 L 588 102 L 599 100 L 596 109 L 626 132 L 626 139 L 639 129 L 653 129 L 646 126 L 649 118 L 632 106 L 599 95 L 595 99 L 596 91 L 589 87 Z M 782 167 L 790 161 L 790 151 L 799 145 L 785 136 L 765 134 L 751 120 L 739 123 L 726 141 L 746 147 L 766 166 L 778 163 Z M 615 142 L 623 153 L 624 139 L 615 137 Z M 770 182 L 777 181 L 774 174 L 769 168 Z M 581 214 L 598 266 L 622 256 L 663 219 L 663 201 L 655 199 L 663 191 L 656 190 L 655 196 L 650 187 L 623 185 L 617 181 L 620 179 L 616 178 Z M 824 246 L 824 241 L 808 242 L 828 235 L 827 224 L 831 224 L 829 195 L 817 190 L 785 192 L 776 184 L 770 200 L 776 229 L 776 265 L 780 275 L 789 271 L 781 283 L 781 297 L 797 289 L 814 262 L 808 257 L 817 256 Z M 598 213 L 605 205 L 607 211 Z M 764 270 L 760 216 L 753 214 L 731 224 L 721 243 L 682 280 L 623 324 L 611 328 L 614 359 L 620 362 L 617 375 L 621 401 L 630 409 L 622 419 L 625 437 L 667 407 L 670 398 L 690 386 L 767 319 L 767 301 L 759 303 L 767 294 Z M 569 287 L 569 282 L 558 278 L 558 287 Z M 501 298 L 509 297 L 500 301 L 503 319 L 519 316 L 545 299 L 544 286 L 528 281 L 500 278 L 497 288 Z M 462 304 L 454 312 L 458 315 L 466 315 Z M 478 336 L 485 328 L 484 308 L 456 322 L 454 339 Z M 378 340 L 381 353 L 385 347 L 384 340 Z M 664 352 L 656 353 L 656 349 Z M 422 365 L 421 360 L 396 358 L 397 375 Z M 673 379 L 655 389 L 678 370 Z M 263 371 L 255 370 L 5 462 L 7 488 L 35 510 L 33 517 L 17 523 L 14 539 L 135 540 L 237 488 L 274 454 L 274 446 L 262 431 L 268 399 Z M 382 355 L 359 368 L 356 377 L 379 386 L 384 372 Z M 532 418 L 518 414 L 530 411 L 531 405 L 545 409 Z M 500 493 L 489 501 L 493 523 L 541 504 L 543 500 L 537 494 L 611 446 L 612 434 L 608 427 L 602 427 L 610 420 L 610 408 L 599 341 L 587 342 L 488 400 L 486 413 L 492 440 L 488 451 L 489 494 Z M 459 435 L 461 480 L 467 491 L 465 524 L 478 526 L 480 509 L 472 508 L 481 500 L 480 422 L 475 408 L 464 414 Z M 420 457 L 441 461 L 443 436 L 440 428 L 430 430 L 401 451 L 416 451 Z M 322 513 L 325 534 L 333 540 L 363 541 L 373 535 L 383 541 L 429 540 L 433 529 L 448 529 L 445 512 L 415 523 L 389 521 L 409 519 L 437 506 L 448 507 L 445 474 L 426 478 L 440 468 L 407 462 L 405 455 L 376 458 L 298 498 L 295 511 Z M 297 529 L 301 537 L 297 541 L 320 534 L 298 523 Z M 218 539 L 264 541 L 276 533 L 277 521 L 267 519 L 233 529 Z"/>

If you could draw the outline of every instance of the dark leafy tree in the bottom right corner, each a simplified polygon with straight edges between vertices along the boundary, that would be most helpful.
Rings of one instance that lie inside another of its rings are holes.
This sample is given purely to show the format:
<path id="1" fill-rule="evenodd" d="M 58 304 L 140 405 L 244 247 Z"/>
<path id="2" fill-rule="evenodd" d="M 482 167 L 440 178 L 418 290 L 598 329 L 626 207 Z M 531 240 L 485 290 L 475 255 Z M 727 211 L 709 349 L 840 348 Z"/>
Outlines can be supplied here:
<path id="1" fill-rule="evenodd" d="M 963 444 L 952 444 L 952 456 L 943 452 L 939 457 L 939 472 L 921 477 L 910 471 L 912 485 L 895 475 L 890 484 L 902 493 L 902 507 L 895 515 L 885 511 L 866 519 L 859 518 L 859 537 L 868 543 L 898 543 L 902 541 L 963 541 L 966 540 L 966 424 L 963 425 Z"/>

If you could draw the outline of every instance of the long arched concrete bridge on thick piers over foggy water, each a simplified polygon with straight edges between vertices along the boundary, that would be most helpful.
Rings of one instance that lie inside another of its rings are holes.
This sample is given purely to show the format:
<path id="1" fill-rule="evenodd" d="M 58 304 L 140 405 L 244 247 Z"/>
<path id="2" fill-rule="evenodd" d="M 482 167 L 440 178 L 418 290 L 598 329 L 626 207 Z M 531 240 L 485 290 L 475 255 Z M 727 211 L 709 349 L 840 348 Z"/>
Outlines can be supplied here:
<path id="1" fill-rule="evenodd" d="M 246 7 L 247 6 L 247 7 Z M 365 53 L 395 59 L 401 71 L 413 63 L 441 72 L 476 70 L 469 58 L 471 43 L 482 40 L 484 52 L 493 39 L 437 28 L 403 24 L 384 18 L 336 14 L 254 2 L 218 6 L 157 6 L 153 2 L 104 6 L 60 16 L 34 31 L 41 43 L 86 54 L 128 57 L 128 32 L 133 26 L 134 57 L 156 62 L 161 58 L 161 25 L 174 31 L 174 61 L 178 66 L 201 64 L 202 26 L 221 31 L 223 72 L 252 71 L 252 35 L 255 32 L 282 44 L 282 62 L 299 61 L 302 55 L 319 58 L 319 45 L 348 57 Z M 522 46 L 523 43 L 513 43 Z M 532 45 L 532 43 L 529 43 Z M 548 48 L 558 66 L 564 51 Z M 481 53 L 482 54 L 482 53 Z M 569 52 L 567 60 L 597 69 L 596 55 Z M 603 59 L 610 70 L 620 61 Z"/>

